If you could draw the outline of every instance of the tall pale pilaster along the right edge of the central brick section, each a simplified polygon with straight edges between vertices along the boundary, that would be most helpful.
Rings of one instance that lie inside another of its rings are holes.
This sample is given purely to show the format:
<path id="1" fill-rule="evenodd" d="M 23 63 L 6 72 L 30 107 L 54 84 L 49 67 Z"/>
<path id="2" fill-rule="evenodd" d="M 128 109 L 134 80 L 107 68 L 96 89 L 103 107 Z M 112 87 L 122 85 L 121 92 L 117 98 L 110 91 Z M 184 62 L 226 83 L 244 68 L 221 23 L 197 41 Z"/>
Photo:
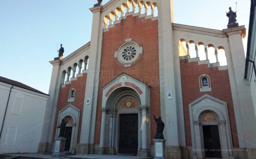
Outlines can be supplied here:
<path id="1" fill-rule="evenodd" d="M 164 136 L 166 145 L 179 146 L 178 124 L 177 124 L 177 104 L 175 91 L 175 67 L 173 48 L 173 4 L 172 0 L 162 0 L 158 2 L 158 34 L 159 34 L 159 74 L 160 74 L 160 100 L 161 116 L 163 121 L 171 121 L 166 124 Z M 168 68 L 168 69 L 166 69 Z M 168 99 L 166 94 L 171 90 L 173 98 Z M 168 135 L 167 135 L 168 130 Z"/>

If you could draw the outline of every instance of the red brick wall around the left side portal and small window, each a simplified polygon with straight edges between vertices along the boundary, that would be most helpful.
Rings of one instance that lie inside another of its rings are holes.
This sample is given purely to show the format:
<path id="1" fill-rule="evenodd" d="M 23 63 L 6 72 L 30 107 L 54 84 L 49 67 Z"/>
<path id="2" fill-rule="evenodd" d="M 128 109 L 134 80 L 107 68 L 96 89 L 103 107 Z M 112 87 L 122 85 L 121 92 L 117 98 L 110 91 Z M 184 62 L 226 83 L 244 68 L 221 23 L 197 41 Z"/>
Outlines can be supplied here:
<path id="1" fill-rule="evenodd" d="M 84 73 L 82 77 L 77 77 L 77 80 L 72 80 L 70 84 L 65 84 L 64 88 L 60 88 L 60 94 L 58 99 L 58 107 L 55 115 L 55 124 L 54 124 L 54 132 L 53 132 L 53 139 L 54 142 L 57 121 L 59 111 L 66 107 L 68 104 L 72 104 L 80 110 L 80 119 L 78 125 L 78 134 L 77 134 L 77 143 L 80 141 L 80 133 L 81 133 L 81 124 L 82 124 L 82 116 L 83 116 L 83 107 L 84 107 L 84 95 L 85 95 L 85 87 L 86 87 L 86 79 L 87 73 Z M 68 102 L 69 91 L 70 89 L 75 88 L 75 101 Z"/>

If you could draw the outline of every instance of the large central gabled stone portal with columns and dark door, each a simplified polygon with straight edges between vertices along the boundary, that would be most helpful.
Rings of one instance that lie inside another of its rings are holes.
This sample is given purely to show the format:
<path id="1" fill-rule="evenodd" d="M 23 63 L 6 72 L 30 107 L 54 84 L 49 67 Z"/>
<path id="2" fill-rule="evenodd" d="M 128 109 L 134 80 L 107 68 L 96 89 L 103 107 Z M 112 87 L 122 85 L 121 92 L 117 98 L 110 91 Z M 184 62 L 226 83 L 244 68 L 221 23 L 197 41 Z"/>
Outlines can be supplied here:
<path id="1" fill-rule="evenodd" d="M 150 86 L 123 73 L 102 89 L 99 152 L 150 156 Z"/>

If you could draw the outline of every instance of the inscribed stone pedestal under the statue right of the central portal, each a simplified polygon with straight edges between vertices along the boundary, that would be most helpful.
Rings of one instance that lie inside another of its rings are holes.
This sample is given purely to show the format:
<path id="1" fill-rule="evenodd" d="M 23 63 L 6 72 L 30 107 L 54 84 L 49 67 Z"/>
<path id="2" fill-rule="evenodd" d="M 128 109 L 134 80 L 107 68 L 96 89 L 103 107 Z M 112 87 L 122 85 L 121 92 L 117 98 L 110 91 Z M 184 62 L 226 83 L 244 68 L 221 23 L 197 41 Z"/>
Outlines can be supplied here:
<path id="1" fill-rule="evenodd" d="M 166 159 L 165 158 L 165 141 L 162 139 L 153 139 L 155 142 L 155 158 L 154 159 Z"/>

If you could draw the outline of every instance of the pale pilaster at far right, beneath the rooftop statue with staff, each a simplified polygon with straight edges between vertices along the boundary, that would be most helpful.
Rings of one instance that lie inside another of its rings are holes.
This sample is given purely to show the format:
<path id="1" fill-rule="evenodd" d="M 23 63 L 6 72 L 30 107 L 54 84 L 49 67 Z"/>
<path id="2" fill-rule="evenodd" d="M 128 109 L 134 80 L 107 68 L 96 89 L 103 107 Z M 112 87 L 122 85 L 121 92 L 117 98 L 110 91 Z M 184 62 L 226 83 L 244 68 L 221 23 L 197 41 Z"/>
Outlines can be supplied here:
<path id="1" fill-rule="evenodd" d="M 256 146 L 256 117 L 253 107 L 250 86 L 245 83 L 245 53 L 242 38 L 245 37 L 244 26 L 224 29 L 230 45 L 227 50 L 229 79 L 231 84 L 232 98 L 235 110 L 237 131 L 239 136 L 239 146 L 241 148 L 255 148 Z"/>

